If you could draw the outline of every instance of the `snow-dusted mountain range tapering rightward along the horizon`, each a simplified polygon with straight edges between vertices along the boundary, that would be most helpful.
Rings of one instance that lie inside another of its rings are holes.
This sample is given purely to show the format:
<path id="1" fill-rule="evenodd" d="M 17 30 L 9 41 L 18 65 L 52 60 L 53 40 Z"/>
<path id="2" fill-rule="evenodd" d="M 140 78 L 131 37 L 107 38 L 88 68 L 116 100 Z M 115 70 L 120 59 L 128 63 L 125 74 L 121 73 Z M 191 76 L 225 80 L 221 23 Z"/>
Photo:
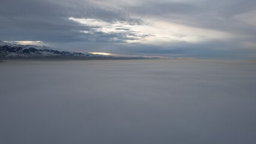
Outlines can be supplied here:
<path id="1" fill-rule="evenodd" d="M 159 56 L 113 56 L 88 52 L 56 50 L 46 46 L 13 44 L 0 41 L 0 58 L 69 58 L 69 59 L 159 59 Z"/>

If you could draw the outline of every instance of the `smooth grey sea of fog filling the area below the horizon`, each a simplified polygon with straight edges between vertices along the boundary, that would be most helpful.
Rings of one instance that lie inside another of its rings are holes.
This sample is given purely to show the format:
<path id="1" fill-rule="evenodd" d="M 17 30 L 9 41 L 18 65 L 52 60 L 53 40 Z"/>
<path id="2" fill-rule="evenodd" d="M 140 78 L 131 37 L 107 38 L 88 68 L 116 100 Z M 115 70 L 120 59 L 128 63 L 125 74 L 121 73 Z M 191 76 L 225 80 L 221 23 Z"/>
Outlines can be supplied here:
<path id="1" fill-rule="evenodd" d="M 0 143 L 256 143 L 256 62 L 0 62 Z"/>

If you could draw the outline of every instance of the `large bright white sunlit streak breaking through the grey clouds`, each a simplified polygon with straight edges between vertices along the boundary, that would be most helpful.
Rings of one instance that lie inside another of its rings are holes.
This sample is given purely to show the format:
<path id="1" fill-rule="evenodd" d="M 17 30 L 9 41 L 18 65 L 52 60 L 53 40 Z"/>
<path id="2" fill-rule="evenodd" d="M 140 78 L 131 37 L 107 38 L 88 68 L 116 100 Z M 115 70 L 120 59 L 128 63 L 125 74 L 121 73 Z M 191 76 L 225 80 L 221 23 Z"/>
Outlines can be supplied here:
<path id="1" fill-rule="evenodd" d="M 96 26 L 96 32 L 106 34 L 123 34 L 126 43 L 163 44 L 174 42 L 200 43 L 209 40 L 232 38 L 231 34 L 212 29 L 194 28 L 178 23 L 166 22 L 157 19 L 148 19 L 148 25 L 129 25 L 127 22 L 105 22 L 98 19 L 77 19 L 69 17 L 69 20 L 87 26 Z M 81 31 L 85 34 L 93 34 L 93 31 Z M 134 35 L 133 35 L 134 34 Z M 146 35 L 146 36 L 145 36 Z M 144 36 L 144 37 L 143 37 Z"/>

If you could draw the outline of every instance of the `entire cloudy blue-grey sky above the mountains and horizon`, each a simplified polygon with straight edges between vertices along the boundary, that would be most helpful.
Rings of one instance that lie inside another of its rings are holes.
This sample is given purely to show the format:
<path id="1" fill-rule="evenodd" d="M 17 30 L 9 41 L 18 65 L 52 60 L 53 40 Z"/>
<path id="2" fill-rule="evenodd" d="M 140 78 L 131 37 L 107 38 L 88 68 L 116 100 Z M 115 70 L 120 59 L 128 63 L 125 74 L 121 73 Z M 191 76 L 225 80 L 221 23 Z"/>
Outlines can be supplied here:
<path id="1" fill-rule="evenodd" d="M 1 0 L 0 40 L 79 52 L 255 59 L 255 0 Z"/>

